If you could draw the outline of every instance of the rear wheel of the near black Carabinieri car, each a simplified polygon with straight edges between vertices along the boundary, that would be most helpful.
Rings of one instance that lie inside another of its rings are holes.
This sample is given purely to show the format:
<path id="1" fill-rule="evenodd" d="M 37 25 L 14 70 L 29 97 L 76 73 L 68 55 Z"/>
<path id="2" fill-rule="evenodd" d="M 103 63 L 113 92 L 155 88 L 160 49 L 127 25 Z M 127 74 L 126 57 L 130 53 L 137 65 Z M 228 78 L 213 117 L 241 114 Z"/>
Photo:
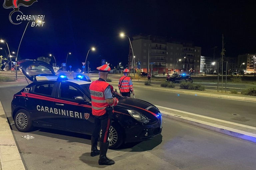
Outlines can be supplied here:
<path id="1" fill-rule="evenodd" d="M 21 132 L 27 132 L 33 128 L 29 113 L 24 110 L 18 110 L 14 116 L 15 127 Z"/>

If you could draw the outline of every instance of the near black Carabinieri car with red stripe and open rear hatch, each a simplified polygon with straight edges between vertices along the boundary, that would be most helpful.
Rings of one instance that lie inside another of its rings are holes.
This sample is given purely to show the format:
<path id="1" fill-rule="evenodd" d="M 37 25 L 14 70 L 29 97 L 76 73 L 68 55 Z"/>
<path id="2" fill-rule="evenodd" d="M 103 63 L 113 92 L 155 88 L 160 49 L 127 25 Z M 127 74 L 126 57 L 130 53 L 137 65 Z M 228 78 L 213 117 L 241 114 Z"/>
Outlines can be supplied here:
<path id="1" fill-rule="evenodd" d="M 11 113 L 16 128 L 27 132 L 33 127 L 53 128 L 92 134 L 94 116 L 88 76 L 68 79 L 57 76 L 53 67 L 37 60 L 21 60 L 20 70 L 32 81 L 13 96 Z M 114 107 L 109 133 L 109 148 L 127 142 L 152 139 L 162 131 L 162 115 L 154 105 L 139 99 L 123 97 Z"/>

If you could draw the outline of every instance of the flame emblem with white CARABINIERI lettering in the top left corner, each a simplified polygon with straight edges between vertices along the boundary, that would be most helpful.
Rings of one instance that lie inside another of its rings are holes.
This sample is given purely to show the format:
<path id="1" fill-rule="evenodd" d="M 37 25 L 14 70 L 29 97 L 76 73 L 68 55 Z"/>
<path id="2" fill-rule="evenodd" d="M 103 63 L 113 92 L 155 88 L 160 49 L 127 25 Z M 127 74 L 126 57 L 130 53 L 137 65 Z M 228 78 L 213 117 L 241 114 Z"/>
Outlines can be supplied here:
<path id="1" fill-rule="evenodd" d="M 12 21 L 12 15 L 15 13 L 16 15 L 16 20 L 17 21 L 22 21 L 22 20 L 33 20 L 31 15 L 29 16 L 24 16 L 23 13 L 21 11 L 19 11 L 19 7 L 20 6 L 25 6 L 28 7 L 30 5 L 32 5 L 34 2 L 37 2 L 37 0 L 4 0 L 4 4 L 3 7 L 8 9 L 8 8 L 13 8 L 14 10 L 10 13 L 9 15 L 9 20 L 12 24 L 18 25 L 20 23 L 14 23 Z M 22 15 L 18 15 L 18 14 L 22 14 Z M 39 16 L 34 18 L 38 18 Z M 39 17 L 41 18 L 41 17 Z M 36 19 L 35 19 L 36 20 Z"/>

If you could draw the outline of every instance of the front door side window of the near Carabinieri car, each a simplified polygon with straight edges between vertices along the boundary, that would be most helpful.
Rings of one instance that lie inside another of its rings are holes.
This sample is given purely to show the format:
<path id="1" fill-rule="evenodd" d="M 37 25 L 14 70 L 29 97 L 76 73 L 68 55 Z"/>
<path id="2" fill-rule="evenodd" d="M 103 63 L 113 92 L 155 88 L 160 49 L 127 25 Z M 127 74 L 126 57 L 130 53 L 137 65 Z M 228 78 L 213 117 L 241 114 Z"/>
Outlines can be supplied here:
<path id="1" fill-rule="evenodd" d="M 61 83 L 59 96 L 61 98 L 74 100 L 76 96 L 83 97 L 83 94 L 76 87 L 67 83 Z"/>

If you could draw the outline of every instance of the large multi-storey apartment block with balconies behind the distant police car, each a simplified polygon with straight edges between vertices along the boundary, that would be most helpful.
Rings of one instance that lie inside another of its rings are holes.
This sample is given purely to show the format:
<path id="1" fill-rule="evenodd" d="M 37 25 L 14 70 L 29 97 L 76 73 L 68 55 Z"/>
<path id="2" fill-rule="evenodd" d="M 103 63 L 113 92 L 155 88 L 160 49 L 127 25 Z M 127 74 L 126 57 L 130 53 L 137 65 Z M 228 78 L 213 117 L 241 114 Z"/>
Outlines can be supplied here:
<path id="1" fill-rule="evenodd" d="M 128 65 L 132 71 L 139 68 L 141 72 L 151 72 L 153 75 L 191 72 L 199 74 L 200 59 L 201 47 L 194 46 L 193 42 L 138 35 L 133 37 Z"/>

